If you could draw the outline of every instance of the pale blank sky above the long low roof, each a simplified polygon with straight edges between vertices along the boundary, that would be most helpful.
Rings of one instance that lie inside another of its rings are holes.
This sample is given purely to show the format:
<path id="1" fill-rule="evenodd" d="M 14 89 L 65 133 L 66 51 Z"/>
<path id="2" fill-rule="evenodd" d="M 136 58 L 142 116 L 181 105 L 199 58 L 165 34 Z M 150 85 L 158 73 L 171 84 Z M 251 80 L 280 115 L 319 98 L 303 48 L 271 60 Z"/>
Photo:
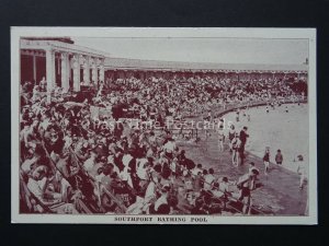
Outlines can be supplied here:
<path id="1" fill-rule="evenodd" d="M 110 57 L 146 60 L 300 65 L 308 57 L 307 39 L 185 38 L 185 37 L 72 37 L 76 45 Z"/>

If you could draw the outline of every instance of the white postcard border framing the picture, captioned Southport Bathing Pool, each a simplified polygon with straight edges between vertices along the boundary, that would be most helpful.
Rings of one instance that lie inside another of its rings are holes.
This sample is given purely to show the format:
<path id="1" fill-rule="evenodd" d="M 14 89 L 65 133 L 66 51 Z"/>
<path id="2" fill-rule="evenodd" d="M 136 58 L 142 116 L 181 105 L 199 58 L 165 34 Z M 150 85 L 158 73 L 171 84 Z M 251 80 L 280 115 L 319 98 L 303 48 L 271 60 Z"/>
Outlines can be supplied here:
<path id="1" fill-rule="evenodd" d="M 309 215 L 308 216 L 213 216 L 213 215 L 71 215 L 19 213 L 19 68 L 21 36 L 79 37 L 240 37 L 307 38 L 309 42 Z M 11 27 L 11 218 L 12 223 L 100 224 L 317 224 L 317 105 L 315 28 L 154 28 L 154 27 Z M 125 220 L 123 220 L 125 218 Z M 131 218 L 131 219 L 127 219 Z M 134 218 L 151 221 L 132 221 Z M 166 221 L 168 218 L 169 222 Z M 177 221 L 170 221 L 175 218 Z M 206 222 L 192 219 L 206 218 Z M 117 221 L 117 219 L 120 221 Z M 131 221 L 127 221 L 131 220 Z"/>

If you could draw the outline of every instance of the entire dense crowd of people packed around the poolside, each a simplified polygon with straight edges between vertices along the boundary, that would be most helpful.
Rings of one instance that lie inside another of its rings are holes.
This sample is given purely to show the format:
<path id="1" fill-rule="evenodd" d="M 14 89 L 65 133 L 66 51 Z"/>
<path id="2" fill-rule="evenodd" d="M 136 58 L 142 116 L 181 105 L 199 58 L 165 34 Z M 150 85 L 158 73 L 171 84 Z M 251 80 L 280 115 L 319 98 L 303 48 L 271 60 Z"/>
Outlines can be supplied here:
<path id="1" fill-rule="evenodd" d="M 235 200 L 248 214 L 259 174 L 254 164 L 238 180 L 215 175 L 206 163 L 185 156 L 166 122 L 212 108 L 296 95 L 276 78 L 132 77 L 107 80 L 87 94 L 56 87 L 48 103 L 44 84 L 21 86 L 22 212 L 214 214 Z M 132 125 L 128 119 L 158 127 Z M 239 133 L 231 129 L 228 139 L 238 165 L 247 128 Z"/>

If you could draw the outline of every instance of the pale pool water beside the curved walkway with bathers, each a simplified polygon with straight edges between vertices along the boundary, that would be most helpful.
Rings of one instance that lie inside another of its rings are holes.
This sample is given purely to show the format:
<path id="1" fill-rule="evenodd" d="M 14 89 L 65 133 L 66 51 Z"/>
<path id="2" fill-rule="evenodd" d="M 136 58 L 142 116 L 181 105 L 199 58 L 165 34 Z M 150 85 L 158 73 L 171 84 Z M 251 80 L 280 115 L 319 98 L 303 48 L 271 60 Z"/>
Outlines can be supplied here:
<path id="1" fill-rule="evenodd" d="M 285 110 L 288 110 L 286 113 Z M 298 154 L 304 156 L 305 163 L 308 165 L 308 140 L 309 140 L 309 122 L 308 122 L 308 105 L 307 104 L 287 104 L 270 108 L 253 107 L 240 113 L 240 120 L 236 121 L 236 113 L 229 113 L 224 116 L 225 131 L 228 131 L 228 124 L 234 124 L 236 129 L 240 131 L 243 126 L 248 127 L 249 139 L 246 144 L 246 151 L 258 157 L 263 157 L 265 148 L 270 148 L 270 162 L 275 163 L 276 150 L 281 150 L 283 155 L 283 166 L 296 172 L 297 165 L 294 159 Z M 227 133 L 226 133 L 227 134 Z"/>

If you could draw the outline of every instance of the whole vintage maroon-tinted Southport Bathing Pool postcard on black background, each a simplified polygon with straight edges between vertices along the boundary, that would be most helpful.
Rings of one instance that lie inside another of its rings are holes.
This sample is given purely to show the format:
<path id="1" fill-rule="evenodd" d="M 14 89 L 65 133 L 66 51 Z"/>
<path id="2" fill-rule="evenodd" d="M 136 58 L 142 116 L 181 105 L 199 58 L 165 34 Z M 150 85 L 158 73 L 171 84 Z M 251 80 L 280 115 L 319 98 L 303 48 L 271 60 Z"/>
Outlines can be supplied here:
<path id="1" fill-rule="evenodd" d="M 317 224 L 316 30 L 12 27 L 13 223 Z"/>

